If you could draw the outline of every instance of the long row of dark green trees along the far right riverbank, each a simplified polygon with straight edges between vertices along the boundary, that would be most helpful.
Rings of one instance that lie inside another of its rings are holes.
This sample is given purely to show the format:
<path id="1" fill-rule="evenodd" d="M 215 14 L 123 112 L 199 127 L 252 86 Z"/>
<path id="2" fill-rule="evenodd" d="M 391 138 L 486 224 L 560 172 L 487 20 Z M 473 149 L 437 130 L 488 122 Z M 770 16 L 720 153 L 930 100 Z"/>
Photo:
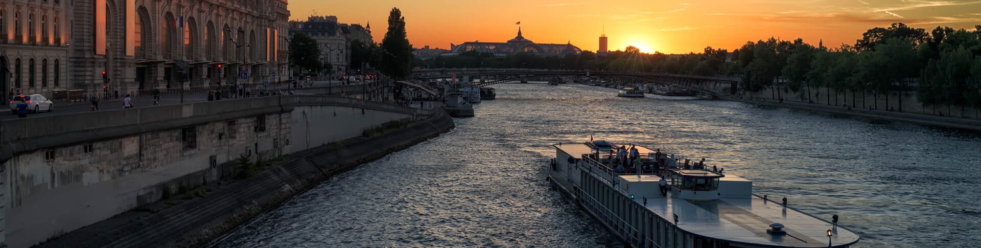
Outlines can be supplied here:
<path id="1" fill-rule="evenodd" d="M 973 30 L 937 26 L 931 31 L 904 24 L 874 27 L 862 33 L 854 45 L 817 46 L 803 40 L 749 41 L 732 52 L 706 47 L 702 53 L 686 55 L 644 54 L 636 47 L 613 51 L 607 56 L 593 52 L 564 57 L 538 57 L 517 53 L 506 57 L 466 52 L 459 56 L 439 56 L 432 60 L 415 60 L 422 68 L 530 68 L 551 70 L 597 70 L 649 72 L 665 74 L 698 74 L 740 77 L 742 89 L 769 90 L 773 99 L 817 101 L 811 92 L 824 88 L 825 102 L 837 106 L 865 108 L 869 94 L 873 107 L 880 109 L 879 96 L 886 97 L 883 108 L 903 112 L 902 97 L 890 108 L 889 95 L 915 91 L 924 107 L 937 114 L 946 107 L 981 109 L 981 25 Z M 795 96 L 782 95 L 798 92 Z M 841 102 L 838 95 L 844 94 Z M 834 95 L 834 96 L 832 96 Z M 852 96 L 852 102 L 847 101 Z M 832 99 L 835 98 L 835 99 Z M 977 114 L 975 114 L 975 117 Z"/>

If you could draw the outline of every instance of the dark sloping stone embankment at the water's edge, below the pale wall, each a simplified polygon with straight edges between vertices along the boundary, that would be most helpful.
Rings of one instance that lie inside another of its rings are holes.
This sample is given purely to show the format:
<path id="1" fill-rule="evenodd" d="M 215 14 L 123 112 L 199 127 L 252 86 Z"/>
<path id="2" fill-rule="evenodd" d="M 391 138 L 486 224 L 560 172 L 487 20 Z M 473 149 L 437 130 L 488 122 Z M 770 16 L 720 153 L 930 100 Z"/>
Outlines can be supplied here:
<path id="1" fill-rule="evenodd" d="M 451 118 L 439 113 L 382 135 L 296 152 L 204 197 L 152 214 L 129 212 L 41 247 L 200 247 L 325 179 L 436 137 L 453 126 Z"/>

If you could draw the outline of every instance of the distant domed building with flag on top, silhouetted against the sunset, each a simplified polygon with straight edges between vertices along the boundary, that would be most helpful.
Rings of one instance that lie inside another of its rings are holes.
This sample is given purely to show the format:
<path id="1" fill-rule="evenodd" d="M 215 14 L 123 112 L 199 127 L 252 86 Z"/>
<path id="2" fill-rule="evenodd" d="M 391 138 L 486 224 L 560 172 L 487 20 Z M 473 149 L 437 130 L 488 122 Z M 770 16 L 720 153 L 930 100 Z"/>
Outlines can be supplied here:
<path id="1" fill-rule="evenodd" d="M 454 56 L 469 51 L 477 51 L 480 53 L 491 53 L 494 56 L 499 57 L 518 52 L 528 52 L 538 56 L 564 56 L 567 54 L 580 54 L 583 52 L 582 49 L 572 45 L 572 43 L 540 44 L 532 42 L 532 40 L 521 35 L 521 27 L 518 27 L 518 36 L 508 40 L 507 42 L 472 41 L 459 45 L 450 44 L 449 50 L 449 53 L 445 53 L 443 55 Z"/>

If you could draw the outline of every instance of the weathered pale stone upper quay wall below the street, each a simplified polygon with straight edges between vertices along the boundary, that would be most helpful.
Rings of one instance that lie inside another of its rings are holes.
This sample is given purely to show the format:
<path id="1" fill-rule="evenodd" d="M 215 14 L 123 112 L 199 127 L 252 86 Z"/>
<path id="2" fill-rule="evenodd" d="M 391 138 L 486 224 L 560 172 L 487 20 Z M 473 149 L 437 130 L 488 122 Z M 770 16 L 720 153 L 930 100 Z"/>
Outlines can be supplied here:
<path id="1" fill-rule="evenodd" d="M 338 117 L 351 122 L 334 128 L 335 112 L 349 113 Z M 319 119 L 310 123 L 297 113 Z M 0 245 L 30 246 L 230 176 L 243 155 L 269 160 L 432 113 L 291 95 L 4 121 Z M 300 149 L 294 148 L 297 120 L 307 135 Z M 306 138 L 320 144 L 307 146 Z"/>

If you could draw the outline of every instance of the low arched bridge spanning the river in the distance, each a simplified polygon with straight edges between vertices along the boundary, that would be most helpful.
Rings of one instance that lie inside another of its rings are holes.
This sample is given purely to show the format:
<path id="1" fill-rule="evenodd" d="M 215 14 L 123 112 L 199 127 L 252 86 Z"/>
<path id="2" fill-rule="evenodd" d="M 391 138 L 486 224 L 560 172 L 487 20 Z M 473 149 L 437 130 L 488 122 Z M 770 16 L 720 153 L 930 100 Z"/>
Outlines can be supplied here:
<path id="1" fill-rule="evenodd" d="M 651 83 L 673 85 L 695 90 L 713 97 L 726 94 L 736 94 L 739 86 L 737 77 L 704 76 L 691 74 L 653 74 L 604 71 L 567 71 L 567 70 L 536 70 L 536 69 L 421 69 L 412 71 L 415 79 L 428 80 L 456 76 L 463 80 L 481 78 L 476 86 L 516 81 L 536 77 L 553 76 L 590 76 L 611 78 L 631 83 Z"/>

